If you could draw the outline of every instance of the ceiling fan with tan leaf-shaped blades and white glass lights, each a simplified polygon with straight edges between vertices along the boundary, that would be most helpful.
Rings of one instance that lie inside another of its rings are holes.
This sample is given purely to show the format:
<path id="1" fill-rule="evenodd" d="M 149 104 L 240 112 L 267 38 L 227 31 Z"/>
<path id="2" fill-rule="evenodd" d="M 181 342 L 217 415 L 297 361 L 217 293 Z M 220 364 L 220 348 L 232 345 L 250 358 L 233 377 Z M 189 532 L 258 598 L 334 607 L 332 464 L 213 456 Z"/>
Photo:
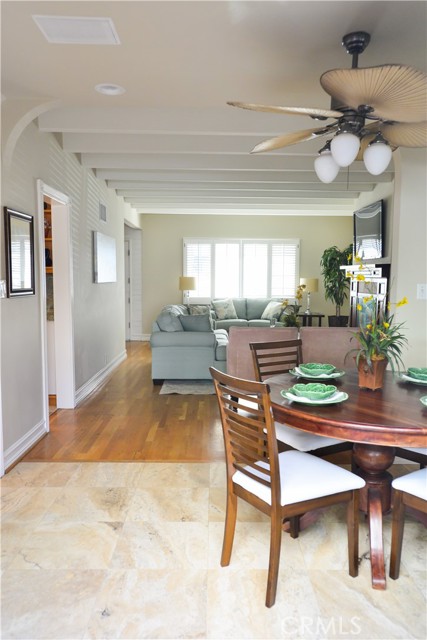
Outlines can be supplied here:
<path id="1" fill-rule="evenodd" d="M 342 45 L 353 56 L 351 69 L 332 69 L 320 76 L 331 96 L 330 109 L 280 107 L 228 102 L 233 107 L 333 119 L 323 127 L 286 133 L 256 145 L 251 153 L 273 151 L 299 142 L 332 136 L 320 149 L 315 170 L 322 182 L 332 182 L 340 167 L 363 158 L 373 175 L 386 170 L 397 147 L 427 146 L 427 76 L 401 64 L 359 68 L 358 57 L 370 41 L 369 33 L 355 31 Z"/>

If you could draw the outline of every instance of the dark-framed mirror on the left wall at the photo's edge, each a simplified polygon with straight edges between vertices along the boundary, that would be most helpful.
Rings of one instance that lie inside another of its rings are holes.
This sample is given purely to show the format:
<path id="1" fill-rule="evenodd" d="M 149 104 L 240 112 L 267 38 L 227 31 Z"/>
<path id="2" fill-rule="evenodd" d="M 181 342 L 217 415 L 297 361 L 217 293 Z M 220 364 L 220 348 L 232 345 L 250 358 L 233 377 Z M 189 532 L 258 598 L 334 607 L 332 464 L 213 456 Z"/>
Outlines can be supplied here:
<path id="1" fill-rule="evenodd" d="M 34 295 L 34 218 L 8 207 L 4 218 L 7 295 Z"/>

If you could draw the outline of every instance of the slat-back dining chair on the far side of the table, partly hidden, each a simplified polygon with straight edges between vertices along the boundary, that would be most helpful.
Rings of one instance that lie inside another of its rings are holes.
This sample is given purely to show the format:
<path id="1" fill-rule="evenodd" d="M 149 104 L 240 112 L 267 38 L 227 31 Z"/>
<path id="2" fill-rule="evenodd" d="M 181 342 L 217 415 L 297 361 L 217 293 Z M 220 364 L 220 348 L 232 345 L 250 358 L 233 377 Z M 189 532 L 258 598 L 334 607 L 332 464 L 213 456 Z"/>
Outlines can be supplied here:
<path id="1" fill-rule="evenodd" d="M 288 373 L 303 361 L 301 339 L 251 342 L 249 347 L 252 353 L 255 380 L 258 382 L 268 382 L 272 376 Z M 353 449 L 352 442 L 306 433 L 282 423 L 276 423 L 276 435 L 277 439 L 286 446 L 298 451 L 310 452 L 321 458 Z"/>

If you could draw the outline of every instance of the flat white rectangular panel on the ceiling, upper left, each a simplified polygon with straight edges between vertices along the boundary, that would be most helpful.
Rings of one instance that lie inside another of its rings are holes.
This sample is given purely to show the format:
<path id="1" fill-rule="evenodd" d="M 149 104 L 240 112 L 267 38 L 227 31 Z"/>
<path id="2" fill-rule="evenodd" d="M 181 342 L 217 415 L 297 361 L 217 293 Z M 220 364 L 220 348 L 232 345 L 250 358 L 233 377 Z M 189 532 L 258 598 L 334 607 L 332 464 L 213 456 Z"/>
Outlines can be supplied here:
<path id="1" fill-rule="evenodd" d="M 120 44 L 111 18 L 35 15 L 33 20 L 52 44 Z"/>

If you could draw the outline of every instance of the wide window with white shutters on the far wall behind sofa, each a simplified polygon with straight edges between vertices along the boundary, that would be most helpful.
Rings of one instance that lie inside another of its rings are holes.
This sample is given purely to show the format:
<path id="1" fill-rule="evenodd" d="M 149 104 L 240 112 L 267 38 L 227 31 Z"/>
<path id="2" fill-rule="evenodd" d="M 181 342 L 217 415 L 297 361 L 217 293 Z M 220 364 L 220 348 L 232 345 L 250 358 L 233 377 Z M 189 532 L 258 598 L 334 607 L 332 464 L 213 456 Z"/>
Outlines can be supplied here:
<path id="1" fill-rule="evenodd" d="M 292 298 L 299 282 L 299 240 L 184 238 L 186 276 L 194 301 Z"/>

